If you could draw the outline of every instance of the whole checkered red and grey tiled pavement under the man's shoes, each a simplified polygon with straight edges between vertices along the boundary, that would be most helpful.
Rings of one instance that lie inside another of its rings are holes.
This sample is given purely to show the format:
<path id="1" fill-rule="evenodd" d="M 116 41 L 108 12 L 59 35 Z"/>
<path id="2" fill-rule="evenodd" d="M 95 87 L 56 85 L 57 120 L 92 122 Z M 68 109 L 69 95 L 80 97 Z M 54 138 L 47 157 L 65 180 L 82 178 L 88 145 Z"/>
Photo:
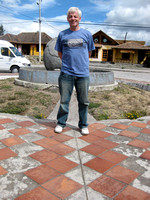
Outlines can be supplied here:
<path id="1" fill-rule="evenodd" d="M 0 114 L 0 200 L 150 199 L 150 117 L 55 125 Z"/>

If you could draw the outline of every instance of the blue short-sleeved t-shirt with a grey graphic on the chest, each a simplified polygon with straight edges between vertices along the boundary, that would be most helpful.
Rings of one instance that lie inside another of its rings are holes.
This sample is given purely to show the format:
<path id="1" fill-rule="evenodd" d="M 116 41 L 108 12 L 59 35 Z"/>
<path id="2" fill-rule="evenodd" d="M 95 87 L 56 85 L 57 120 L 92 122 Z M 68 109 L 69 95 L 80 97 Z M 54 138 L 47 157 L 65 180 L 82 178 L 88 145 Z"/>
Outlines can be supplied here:
<path id="1" fill-rule="evenodd" d="M 78 77 L 89 76 L 89 51 L 94 49 L 89 31 L 80 28 L 78 31 L 66 29 L 60 32 L 55 50 L 62 52 L 61 71 Z"/>

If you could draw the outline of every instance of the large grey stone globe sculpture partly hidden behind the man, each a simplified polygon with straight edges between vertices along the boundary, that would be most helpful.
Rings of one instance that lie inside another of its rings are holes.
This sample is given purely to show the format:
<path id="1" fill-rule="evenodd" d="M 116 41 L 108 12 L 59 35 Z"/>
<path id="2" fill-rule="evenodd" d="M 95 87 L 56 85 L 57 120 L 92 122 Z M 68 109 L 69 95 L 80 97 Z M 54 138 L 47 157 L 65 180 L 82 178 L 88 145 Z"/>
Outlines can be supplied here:
<path id="1" fill-rule="evenodd" d="M 44 50 L 44 65 L 47 70 L 55 70 L 61 68 L 61 59 L 58 56 L 58 52 L 54 49 L 57 38 L 51 39 Z"/>

